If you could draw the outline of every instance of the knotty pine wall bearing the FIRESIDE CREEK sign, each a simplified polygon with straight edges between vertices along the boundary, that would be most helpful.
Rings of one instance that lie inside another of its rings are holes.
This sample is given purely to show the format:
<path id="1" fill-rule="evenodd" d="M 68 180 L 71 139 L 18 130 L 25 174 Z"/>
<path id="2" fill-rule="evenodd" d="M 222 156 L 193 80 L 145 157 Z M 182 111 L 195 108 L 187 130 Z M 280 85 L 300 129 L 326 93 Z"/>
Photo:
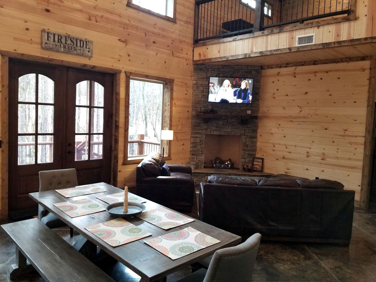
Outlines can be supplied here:
<path id="1" fill-rule="evenodd" d="M 24 53 L 58 59 L 68 65 L 78 63 L 122 71 L 118 186 L 135 184 L 136 165 L 122 165 L 125 71 L 174 79 L 170 126 L 174 140 L 169 162 L 186 163 L 190 157 L 194 0 L 177 0 L 176 24 L 129 8 L 126 3 L 127 0 L 0 0 L 0 53 Z M 93 58 L 42 50 L 41 29 L 91 39 Z M 6 103 L 2 104 L 2 112 L 6 107 Z M 5 162 L 2 171 L 6 171 Z M 4 183 L 6 176 L 1 177 Z M 0 203 L 6 203 L 8 186 L 0 185 Z M 3 206 L 1 209 L 6 214 Z"/>

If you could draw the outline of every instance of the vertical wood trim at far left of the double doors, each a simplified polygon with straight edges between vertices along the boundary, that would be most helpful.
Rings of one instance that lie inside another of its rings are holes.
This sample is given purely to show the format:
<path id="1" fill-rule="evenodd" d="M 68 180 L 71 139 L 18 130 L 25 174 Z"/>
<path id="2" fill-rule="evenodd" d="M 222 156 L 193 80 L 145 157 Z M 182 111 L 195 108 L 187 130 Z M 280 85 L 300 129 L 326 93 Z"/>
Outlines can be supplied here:
<path id="1" fill-rule="evenodd" d="M 1 56 L 1 185 L 0 219 L 8 218 L 8 57 Z"/>

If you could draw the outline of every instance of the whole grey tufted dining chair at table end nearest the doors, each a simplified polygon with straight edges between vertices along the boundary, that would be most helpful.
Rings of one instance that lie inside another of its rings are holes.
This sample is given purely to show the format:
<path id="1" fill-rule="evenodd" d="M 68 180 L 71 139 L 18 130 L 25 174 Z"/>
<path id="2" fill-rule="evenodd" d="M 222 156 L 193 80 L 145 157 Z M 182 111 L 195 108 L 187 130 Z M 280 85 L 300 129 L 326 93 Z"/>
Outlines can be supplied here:
<path id="1" fill-rule="evenodd" d="M 75 168 L 39 171 L 39 192 L 64 189 L 77 185 L 78 183 Z M 38 208 L 38 218 L 40 221 L 42 221 L 42 223 L 50 228 L 57 228 L 67 225 L 41 205 L 39 205 Z M 73 237 L 72 227 L 70 227 L 70 237 Z"/>

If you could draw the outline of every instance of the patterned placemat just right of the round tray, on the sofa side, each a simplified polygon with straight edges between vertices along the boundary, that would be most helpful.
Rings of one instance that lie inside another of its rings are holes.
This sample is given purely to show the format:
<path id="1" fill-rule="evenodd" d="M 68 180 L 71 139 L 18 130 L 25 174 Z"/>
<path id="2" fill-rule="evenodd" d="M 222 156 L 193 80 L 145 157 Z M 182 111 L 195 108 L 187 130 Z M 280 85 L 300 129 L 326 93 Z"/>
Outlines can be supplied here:
<path id="1" fill-rule="evenodd" d="M 139 217 L 165 230 L 194 221 L 192 218 L 186 217 L 175 211 L 170 211 L 166 208 L 151 209 L 150 211 L 142 212 L 141 214 L 136 215 L 136 217 Z"/>

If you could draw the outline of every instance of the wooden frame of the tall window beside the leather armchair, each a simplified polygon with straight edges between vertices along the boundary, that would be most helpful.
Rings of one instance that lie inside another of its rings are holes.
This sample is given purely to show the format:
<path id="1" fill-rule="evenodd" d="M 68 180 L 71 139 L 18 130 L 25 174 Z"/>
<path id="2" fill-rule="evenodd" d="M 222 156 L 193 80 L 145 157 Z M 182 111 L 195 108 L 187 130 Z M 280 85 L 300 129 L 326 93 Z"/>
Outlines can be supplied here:
<path id="1" fill-rule="evenodd" d="M 128 159 L 128 144 L 129 144 L 129 92 L 130 92 L 130 80 L 141 80 L 141 81 L 147 81 L 147 82 L 156 82 L 156 83 L 164 83 L 163 86 L 163 107 L 162 107 L 162 128 L 164 129 L 167 124 L 165 124 L 165 112 L 166 112 L 166 102 L 169 102 L 168 105 L 168 127 L 169 129 L 172 128 L 172 102 L 173 102 L 173 85 L 174 85 L 174 80 L 173 79 L 168 79 L 165 77 L 158 77 L 158 76 L 149 76 L 146 74 L 138 74 L 138 73 L 129 73 L 126 72 L 126 87 L 125 87 L 125 126 L 124 126 L 124 159 L 123 159 L 123 165 L 128 165 L 128 164 L 139 164 L 139 162 L 144 159 L 144 156 L 140 156 L 139 158 L 134 158 L 134 159 Z M 169 98 L 168 98 L 169 97 Z M 168 142 L 168 155 L 164 157 L 165 160 L 170 160 L 171 159 L 171 141 L 169 140 Z M 162 142 L 161 142 L 162 144 Z M 161 145 L 162 149 L 162 145 Z"/>

